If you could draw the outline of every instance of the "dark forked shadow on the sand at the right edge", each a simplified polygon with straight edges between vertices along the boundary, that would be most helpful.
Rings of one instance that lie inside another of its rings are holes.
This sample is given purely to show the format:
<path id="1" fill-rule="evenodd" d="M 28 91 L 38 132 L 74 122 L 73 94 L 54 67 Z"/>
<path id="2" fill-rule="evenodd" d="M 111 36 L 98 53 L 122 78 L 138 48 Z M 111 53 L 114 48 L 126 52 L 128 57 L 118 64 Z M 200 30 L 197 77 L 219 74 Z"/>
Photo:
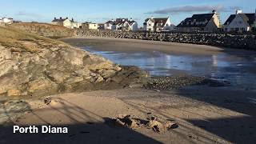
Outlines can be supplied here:
<path id="1" fill-rule="evenodd" d="M 256 143 L 255 91 L 208 87 L 206 89 L 178 90 L 178 94 L 242 114 L 242 116 L 226 115 L 224 118 L 206 118 L 204 120 L 186 119 L 187 122 L 229 142 Z"/>

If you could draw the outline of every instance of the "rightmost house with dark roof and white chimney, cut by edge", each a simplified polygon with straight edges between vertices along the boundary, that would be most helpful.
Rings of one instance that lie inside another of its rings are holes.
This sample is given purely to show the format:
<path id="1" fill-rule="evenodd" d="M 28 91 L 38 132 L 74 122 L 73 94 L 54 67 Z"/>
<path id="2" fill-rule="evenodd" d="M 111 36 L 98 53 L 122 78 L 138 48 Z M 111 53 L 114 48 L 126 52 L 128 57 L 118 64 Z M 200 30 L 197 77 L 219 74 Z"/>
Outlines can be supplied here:
<path id="1" fill-rule="evenodd" d="M 244 14 L 242 10 L 236 10 L 236 14 L 231 14 L 224 23 L 224 31 L 251 31 L 255 30 L 256 11 L 252 14 Z"/>

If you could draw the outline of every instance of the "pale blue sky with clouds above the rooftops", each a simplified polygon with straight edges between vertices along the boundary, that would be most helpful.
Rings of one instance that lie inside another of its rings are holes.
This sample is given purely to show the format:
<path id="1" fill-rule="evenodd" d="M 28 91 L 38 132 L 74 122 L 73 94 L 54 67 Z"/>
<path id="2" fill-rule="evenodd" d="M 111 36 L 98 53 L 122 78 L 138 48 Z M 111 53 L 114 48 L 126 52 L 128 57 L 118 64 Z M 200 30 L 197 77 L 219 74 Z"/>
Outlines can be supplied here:
<path id="1" fill-rule="evenodd" d="M 193 14 L 220 13 L 222 23 L 241 9 L 254 13 L 255 0 L 0 0 L 0 18 L 22 22 L 51 22 L 54 17 L 78 22 L 106 22 L 112 18 L 133 18 L 139 26 L 146 18 L 170 17 L 178 25 Z"/>

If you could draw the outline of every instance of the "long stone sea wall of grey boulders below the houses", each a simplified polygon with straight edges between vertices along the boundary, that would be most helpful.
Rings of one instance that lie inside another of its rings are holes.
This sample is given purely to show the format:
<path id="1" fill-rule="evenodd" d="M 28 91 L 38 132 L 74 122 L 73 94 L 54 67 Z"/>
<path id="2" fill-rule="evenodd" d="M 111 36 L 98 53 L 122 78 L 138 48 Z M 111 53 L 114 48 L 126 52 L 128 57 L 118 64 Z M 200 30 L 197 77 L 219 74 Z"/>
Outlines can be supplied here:
<path id="1" fill-rule="evenodd" d="M 122 31 L 78 30 L 78 36 L 101 38 L 133 38 L 163 42 L 194 43 L 237 49 L 256 50 L 255 34 L 209 34 L 209 33 L 146 33 Z"/>

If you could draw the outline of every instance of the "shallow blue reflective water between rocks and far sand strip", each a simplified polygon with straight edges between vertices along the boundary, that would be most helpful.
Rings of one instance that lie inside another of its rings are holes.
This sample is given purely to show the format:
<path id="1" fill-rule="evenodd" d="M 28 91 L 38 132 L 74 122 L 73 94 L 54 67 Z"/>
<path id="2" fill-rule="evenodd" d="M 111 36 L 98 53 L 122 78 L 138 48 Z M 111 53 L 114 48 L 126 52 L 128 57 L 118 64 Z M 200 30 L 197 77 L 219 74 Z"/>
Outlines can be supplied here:
<path id="1" fill-rule="evenodd" d="M 256 89 L 256 55 L 216 54 L 211 56 L 172 55 L 158 51 L 118 52 L 98 51 L 82 47 L 124 66 L 139 66 L 152 75 L 191 74 L 231 82 L 233 86 Z"/>

